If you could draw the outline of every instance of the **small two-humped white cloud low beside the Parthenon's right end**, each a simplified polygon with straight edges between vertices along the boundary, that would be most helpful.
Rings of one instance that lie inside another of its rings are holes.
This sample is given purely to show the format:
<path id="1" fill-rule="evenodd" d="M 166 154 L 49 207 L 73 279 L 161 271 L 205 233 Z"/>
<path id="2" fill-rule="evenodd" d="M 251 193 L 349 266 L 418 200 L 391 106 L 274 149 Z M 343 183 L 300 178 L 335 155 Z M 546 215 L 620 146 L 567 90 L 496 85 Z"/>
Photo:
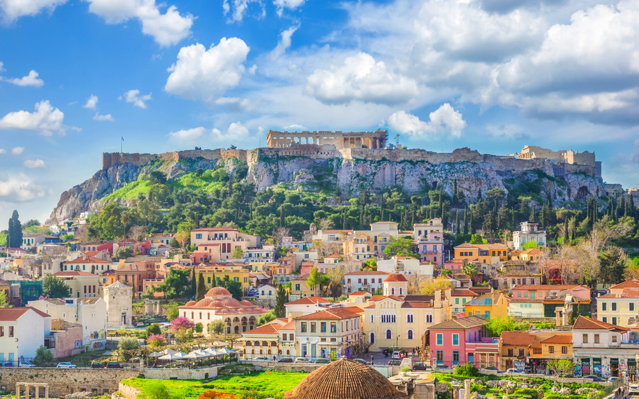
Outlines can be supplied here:
<path id="1" fill-rule="evenodd" d="M 466 127 L 462 114 L 454 110 L 449 103 L 431 112 L 430 120 L 421 121 L 418 117 L 408 112 L 399 111 L 388 117 L 388 127 L 397 130 L 409 137 L 440 137 L 443 133 L 447 136 L 460 137 L 461 131 Z"/>

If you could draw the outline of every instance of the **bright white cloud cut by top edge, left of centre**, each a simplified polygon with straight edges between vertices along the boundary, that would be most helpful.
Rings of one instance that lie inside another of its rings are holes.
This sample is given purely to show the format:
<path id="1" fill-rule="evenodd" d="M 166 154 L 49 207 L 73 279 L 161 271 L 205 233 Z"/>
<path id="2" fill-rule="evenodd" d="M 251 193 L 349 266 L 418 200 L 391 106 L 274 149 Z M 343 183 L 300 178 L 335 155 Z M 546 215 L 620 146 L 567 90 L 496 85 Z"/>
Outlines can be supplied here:
<path id="1" fill-rule="evenodd" d="M 150 35 L 160 46 L 177 44 L 191 34 L 194 17 L 180 15 L 176 6 L 162 14 L 155 0 L 87 0 L 89 10 L 103 17 L 107 24 L 122 24 L 131 18 L 142 23 L 142 33 Z"/>

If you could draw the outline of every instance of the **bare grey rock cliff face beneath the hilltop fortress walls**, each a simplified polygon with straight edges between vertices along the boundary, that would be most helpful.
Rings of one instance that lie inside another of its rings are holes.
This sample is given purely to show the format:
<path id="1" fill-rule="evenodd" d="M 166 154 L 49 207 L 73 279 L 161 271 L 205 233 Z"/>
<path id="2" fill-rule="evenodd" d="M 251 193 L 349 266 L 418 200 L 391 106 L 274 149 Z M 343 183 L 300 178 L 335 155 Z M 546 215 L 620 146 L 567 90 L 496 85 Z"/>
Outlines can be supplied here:
<path id="1" fill-rule="evenodd" d="M 247 160 L 249 172 L 246 181 L 254 182 L 258 191 L 274 186 L 308 192 L 323 190 L 326 195 L 339 196 L 335 198 L 338 201 L 358 196 L 363 189 L 379 192 L 392 186 L 401 188 L 409 195 L 424 193 L 429 189 L 442 189 L 452 194 L 454 180 L 457 180 L 458 190 L 471 203 L 476 201 L 480 190 L 486 194 L 493 187 L 506 192 L 511 189 L 530 192 L 532 189 L 533 197 L 537 195 L 542 199 L 546 198 L 549 191 L 554 201 L 560 203 L 583 201 L 588 194 L 597 197 L 608 195 L 609 185 L 581 171 L 555 178 L 550 162 L 531 163 L 530 169 L 526 169 L 521 167 L 521 162 L 513 167 L 507 160 L 486 162 L 486 157 L 476 158 L 458 162 L 433 162 L 432 159 L 391 162 L 387 158 L 371 160 L 259 155 Z M 154 160 L 142 165 L 118 162 L 64 192 L 47 223 L 59 223 L 73 219 L 81 212 L 99 210 L 107 202 L 107 196 L 137 180 L 142 173 L 161 170 L 171 180 L 197 169 L 224 167 L 232 173 L 239 164 L 246 164 L 244 162 L 224 157 Z"/>

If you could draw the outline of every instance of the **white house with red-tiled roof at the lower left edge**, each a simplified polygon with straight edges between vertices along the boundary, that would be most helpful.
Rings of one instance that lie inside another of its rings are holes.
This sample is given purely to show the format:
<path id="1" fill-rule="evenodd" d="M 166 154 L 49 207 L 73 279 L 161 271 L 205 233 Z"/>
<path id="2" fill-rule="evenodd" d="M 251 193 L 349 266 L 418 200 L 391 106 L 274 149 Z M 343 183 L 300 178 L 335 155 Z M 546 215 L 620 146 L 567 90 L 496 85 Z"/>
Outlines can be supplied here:
<path id="1" fill-rule="evenodd" d="M 21 359 L 31 360 L 35 350 L 51 334 L 51 316 L 33 307 L 0 309 L 0 364 L 18 366 Z"/>

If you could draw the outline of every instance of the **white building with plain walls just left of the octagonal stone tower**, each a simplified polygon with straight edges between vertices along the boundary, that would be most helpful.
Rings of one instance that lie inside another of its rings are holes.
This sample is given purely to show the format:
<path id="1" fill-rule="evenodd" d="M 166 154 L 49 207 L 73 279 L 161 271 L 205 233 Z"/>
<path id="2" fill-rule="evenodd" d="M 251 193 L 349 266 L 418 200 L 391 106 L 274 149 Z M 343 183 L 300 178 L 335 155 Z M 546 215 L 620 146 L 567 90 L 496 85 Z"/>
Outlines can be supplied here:
<path id="1" fill-rule="evenodd" d="M 94 350 L 94 343 L 106 344 L 106 303 L 102 298 L 58 298 L 30 300 L 29 306 L 69 323 L 82 325 L 82 345 Z M 99 348 L 103 346 L 97 345 Z"/>

